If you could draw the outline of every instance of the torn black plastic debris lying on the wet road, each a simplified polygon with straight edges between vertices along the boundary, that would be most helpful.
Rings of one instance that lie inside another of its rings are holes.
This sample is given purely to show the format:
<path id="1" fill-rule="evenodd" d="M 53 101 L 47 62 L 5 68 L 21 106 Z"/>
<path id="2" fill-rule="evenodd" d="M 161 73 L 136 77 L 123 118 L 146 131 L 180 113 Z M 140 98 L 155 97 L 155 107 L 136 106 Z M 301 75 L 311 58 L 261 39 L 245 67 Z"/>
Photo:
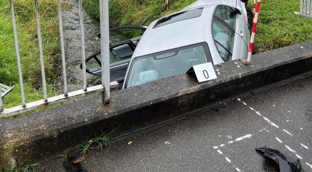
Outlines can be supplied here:
<path id="1" fill-rule="evenodd" d="M 279 164 L 280 172 L 304 172 L 300 164 L 300 159 L 295 161 L 292 157 L 283 151 L 270 148 L 256 148 L 264 156 L 273 159 Z"/>

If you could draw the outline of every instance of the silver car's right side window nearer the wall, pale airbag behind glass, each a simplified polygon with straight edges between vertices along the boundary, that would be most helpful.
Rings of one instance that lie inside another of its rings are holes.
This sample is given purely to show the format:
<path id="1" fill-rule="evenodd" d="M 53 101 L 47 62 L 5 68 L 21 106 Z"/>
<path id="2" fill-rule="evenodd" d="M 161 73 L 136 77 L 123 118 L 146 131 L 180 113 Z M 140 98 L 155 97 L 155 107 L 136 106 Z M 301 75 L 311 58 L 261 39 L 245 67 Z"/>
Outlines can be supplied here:
<path id="1" fill-rule="evenodd" d="M 225 61 L 230 61 L 234 47 L 234 34 L 223 23 L 213 19 L 212 32 L 215 45 L 220 57 Z"/>

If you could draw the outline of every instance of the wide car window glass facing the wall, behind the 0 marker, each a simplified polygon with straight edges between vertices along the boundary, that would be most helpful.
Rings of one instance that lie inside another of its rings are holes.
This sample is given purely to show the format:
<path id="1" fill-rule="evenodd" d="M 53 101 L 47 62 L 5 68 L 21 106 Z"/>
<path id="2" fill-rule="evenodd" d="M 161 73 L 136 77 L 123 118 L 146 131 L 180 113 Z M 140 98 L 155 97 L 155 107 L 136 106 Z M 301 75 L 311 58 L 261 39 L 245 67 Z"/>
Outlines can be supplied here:
<path id="1" fill-rule="evenodd" d="M 185 73 L 192 66 L 207 62 L 211 62 L 207 43 L 193 44 L 134 58 L 125 88 Z"/>

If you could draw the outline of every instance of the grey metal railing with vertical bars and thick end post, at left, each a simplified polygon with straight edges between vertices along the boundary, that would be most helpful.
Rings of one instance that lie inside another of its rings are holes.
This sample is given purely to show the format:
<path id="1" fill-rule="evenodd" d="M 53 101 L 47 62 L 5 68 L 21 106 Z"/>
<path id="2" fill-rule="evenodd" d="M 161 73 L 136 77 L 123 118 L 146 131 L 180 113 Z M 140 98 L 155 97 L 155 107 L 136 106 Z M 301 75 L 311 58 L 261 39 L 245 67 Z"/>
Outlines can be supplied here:
<path id="1" fill-rule="evenodd" d="M 39 109 L 45 106 L 65 102 L 71 99 L 77 99 L 79 97 L 83 97 L 83 96 L 97 93 L 97 92 L 102 92 L 102 100 L 104 104 L 110 103 L 109 89 L 117 87 L 118 83 L 116 81 L 110 83 L 110 76 L 109 76 L 108 0 L 99 0 L 99 1 L 100 1 L 100 29 L 102 33 L 101 34 L 102 84 L 87 88 L 83 9 L 82 9 L 82 0 L 78 0 L 79 16 L 80 16 L 80 30 L 81 30 L 81 44 L 82 44 L 81 55 L 82 55 L 83 89 L 67 93 L 66 66 L 65 66 L 66 63 L 65 63 L 63 23 L 62 23 L 62 13 L 61 13 L 61 0 L 57 0 L 57 11 L 58 11 L 59 27 L 60 27 L 59 29 L 60 29 L 60 41 L 61 41 L 61 58 L 62 58 L 62 70 L 63 70 L 64 94 L 48 98 L 46 85 L 45 85 L 45 67 L 43 63 L 44 61 L 43 61 L 43 51 L 42 51 L 42 41 L 41 41 L 38 0 L 34 0 L 44 99 L 25 104 L 23 78 L 22 78 L 21 62 L 20 62 L 20 56 L 19 56 L 19 43 L 18 43 L 18 38 L 17 38 L 13 0 L 10 0 L 10 9 L 11 9 L 11 16 L 12 16 L 12 24 L 13 24 L 13 34 L 14 34 L 17 66 L 18 66 L 18 72 L 19 72 L 19 83 L 20 83 L 20 89 L 21 89 L 22 105 L 15 106 L 15 107 L 8 108 L 8 109 L 3 109 L 2 96 L 0 92 L 0 117 L 13 116 L 13 115 L 24 113 L 30 110 Z"/>

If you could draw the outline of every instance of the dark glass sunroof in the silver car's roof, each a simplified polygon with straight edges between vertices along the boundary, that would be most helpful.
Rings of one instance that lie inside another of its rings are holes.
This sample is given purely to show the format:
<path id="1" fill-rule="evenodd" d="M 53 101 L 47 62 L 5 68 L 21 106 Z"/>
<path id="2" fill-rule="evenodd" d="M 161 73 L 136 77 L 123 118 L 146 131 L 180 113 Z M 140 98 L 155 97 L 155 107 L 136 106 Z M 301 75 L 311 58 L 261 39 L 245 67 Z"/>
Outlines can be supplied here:
<path id="1" fill-rule="evenodd" d="M 164 26 L 166 24 L 187 20 L 190 18 L 197 18 L 202 15 L 204 8 L 195 8 L 188 11 L 182 11 L 180 13 L 172 14 L 170 16 L 159 19 L 154 25 L 153 29 Z"/>

